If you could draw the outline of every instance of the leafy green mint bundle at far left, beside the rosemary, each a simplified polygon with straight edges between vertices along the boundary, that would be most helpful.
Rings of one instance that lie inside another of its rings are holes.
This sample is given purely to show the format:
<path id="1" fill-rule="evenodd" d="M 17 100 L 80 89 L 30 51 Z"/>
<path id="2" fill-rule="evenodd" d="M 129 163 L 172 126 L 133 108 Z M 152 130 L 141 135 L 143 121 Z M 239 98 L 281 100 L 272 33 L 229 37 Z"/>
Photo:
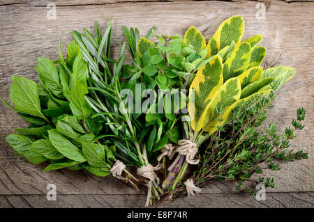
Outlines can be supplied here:
<path id="1" fill-rule="evenodd" d="M 105 177 L 115 162 L 112 143 L 100 143 L 103 125 L 94 118 L 94 111 L 84 96 L 87 90 L 87 63 L 75 41 L 67 48 L 67 58 L 61 54 L 58 61 L 38 58 L 35 68 L 40 84 L 24 77 L 12 76 L 10 100 L 3 99 L 10 109 L 17 111 L 30 123 L 27 128 L 17 128 L 20 134 L 10 134 L 6 141 L 33 164 L 49 161 L 43 171 L 61 168 L 85 169 Z M 133 175 L 124 170 L 121 179 L 133 184 Z"/>

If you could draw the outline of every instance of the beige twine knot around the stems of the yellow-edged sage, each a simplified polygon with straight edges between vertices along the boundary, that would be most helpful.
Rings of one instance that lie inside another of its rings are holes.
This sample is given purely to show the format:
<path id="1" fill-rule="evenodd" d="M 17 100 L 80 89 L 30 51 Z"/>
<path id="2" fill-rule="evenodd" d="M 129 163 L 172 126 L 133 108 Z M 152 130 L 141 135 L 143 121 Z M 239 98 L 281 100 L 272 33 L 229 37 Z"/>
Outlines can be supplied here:
<path id="1" fill-rule="evenodd" d="M 197 145 L 192 141 L 188 139 L 181 139 L 178 141 L 178 148 L 176 152 L 179 152 L 179 154 L 186 156 L 186 161 L 188 162 L 188 164 L 195 165 L 200 162 L 200 159 L 194 159 L 197 151 Z"/>

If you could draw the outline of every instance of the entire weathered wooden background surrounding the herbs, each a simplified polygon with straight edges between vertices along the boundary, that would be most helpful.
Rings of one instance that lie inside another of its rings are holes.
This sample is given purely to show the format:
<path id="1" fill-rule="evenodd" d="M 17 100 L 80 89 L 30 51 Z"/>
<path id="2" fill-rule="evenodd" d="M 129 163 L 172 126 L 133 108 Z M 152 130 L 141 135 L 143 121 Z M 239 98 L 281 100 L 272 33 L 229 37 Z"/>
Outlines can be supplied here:
<path id="1" fill-rule="evenodd" d="M 47 19 L 49 2 L 57 5 L 56 19 Z M 290 65 L 297 69 L 279 91 L 268 122 L 276 122 L 282 131 L 295 118 L 297 107 L 304 106 L 306 127 L 297 134 L 292 148 L 306 150 L 309 158 L 264 173 L 276 182 L 274 189 L 267 189 L 265 201 L 237 193 L 234 184 L 220 182 L 193 198 L 161 207 L 314 207 L 313 11 L 314 3 L 308 1 L 0 1 L 0 95 L 8 101 L 12 74 L 37 80 L 33 70 L 37 57 L 57 59 L 58 36 L 66 54 L 71 30 L 93 30 L 95 21 L 104 27 L 110 16 L 114 17 L 112 47 L 119 49 L 123 25 L 138 27 L 142 35 L 152 26 L 158 27 L 158 33 L 170 34 L 184 34 L 189 26 L 195 26 L 209 39 L 220 22 L 241 15 L 246 22 L 244 38 L 257 33 L 264 36 L 264 67 Z M 145 195 L 137 195 L 111 176 L 68 170 L 43 173 L 46 164 L 35 166 L 15 157 L 4 138 L 26 125 L 0 104 L 0 207 L 143 207 Z M 56 201 L 46 199 L 47 184 L 57 186 Z"/>

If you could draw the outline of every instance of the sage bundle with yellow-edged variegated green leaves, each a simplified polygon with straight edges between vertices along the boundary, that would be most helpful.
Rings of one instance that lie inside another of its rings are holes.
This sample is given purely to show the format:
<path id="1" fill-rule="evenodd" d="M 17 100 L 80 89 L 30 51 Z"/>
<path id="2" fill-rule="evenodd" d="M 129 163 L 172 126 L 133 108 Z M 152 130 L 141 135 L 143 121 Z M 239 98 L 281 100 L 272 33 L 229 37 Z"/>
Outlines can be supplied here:
<path id="1" fill-rule="evenodd" d="M 283 66 L 263 71 L 258 66 L 266 53 L 264 47 L 258 46 L 262 35 L 241 41 L 243 33 L 244 20 L 234 16 L 220 24 L 207 45 L 194 27 L 185 34 L 187 45 L 199 50 L 207 49 L 207 57 L 210 58 L 197 71 L 189 86 L 190 122 L 182 122 L 186 138 L 196 150 L 212 140 L 219 127 L 232 118 L 234 109 L 251 109 L 273 92 L 273 84 L 281 86 L 295 74 L 294 68 Z M 165 179 L 164 188 L 172 184 L 172 189 L 175 189 L 181 182 L 188 166 L 188 161 L 182 161 L 185 158 L 179 156 L 175 160 L 179 166 Z"/>

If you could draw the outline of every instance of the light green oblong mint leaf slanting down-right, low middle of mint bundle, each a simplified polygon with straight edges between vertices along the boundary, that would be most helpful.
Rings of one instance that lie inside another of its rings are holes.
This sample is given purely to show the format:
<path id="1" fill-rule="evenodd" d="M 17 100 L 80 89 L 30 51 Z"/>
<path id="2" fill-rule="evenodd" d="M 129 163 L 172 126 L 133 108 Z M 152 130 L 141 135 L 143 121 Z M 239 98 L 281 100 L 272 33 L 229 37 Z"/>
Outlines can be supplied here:
<path id="1" fill-rule="evenodd" d="M 57 129 L 50 129 L 48 131 L 49 139 L 54 148 L 56 148 L 61 154 L 68 157 L 68 159 L 72 159 L 78 162 L 84 162 L 86 159 L 82 156 L 80 150 L 70 143 L 70 141 L 59 134 Z"/>

